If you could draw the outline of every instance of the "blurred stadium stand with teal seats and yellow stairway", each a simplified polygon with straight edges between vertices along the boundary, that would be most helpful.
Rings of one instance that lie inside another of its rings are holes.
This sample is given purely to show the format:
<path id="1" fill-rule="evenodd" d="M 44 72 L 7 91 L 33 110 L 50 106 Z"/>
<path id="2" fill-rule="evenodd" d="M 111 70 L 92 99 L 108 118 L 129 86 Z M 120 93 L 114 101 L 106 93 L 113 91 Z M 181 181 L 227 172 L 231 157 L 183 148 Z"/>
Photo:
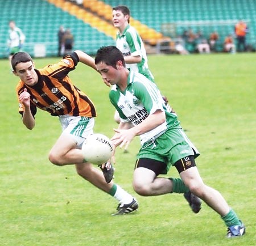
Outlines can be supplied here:
<path id="1" fill-rule="evenodd" d="M 171 53 L 176 38 L 188 28 L 194 32 L 200 29 L 205 37 L 217 31 L 217 51 L 221 52 L 225 36 L 234 34 L 240 19 L 250 30 L 246 36 L 248 50 L 255 51 L 255 0 L 1 0 L 0 58 L 7 57 L 11 19 L 26 35 L 23 50 L 34 57 L 57 56 L 60 25 L 71 29 L 74 49 L 93 55 L 100 46 L 115 44 L 117 29 L 111 19 L 116 5 L 130 8 L 131 25 L 142 36 L 148 53 Z"/>

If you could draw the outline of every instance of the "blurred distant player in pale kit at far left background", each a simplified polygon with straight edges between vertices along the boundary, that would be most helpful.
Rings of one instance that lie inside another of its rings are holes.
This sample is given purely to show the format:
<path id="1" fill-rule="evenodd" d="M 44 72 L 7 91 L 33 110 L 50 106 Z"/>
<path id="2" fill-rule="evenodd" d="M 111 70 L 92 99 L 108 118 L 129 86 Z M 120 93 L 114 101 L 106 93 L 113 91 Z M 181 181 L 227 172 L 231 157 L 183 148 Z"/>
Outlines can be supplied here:
<path id="1" fill-rule="evenodd" d="M 22 49 L 26 37 L 22 30 L 16 27 L 14 20 L 10 20 L 9 27 L 7 46 L 9 52 L 9 61 L 11 62 L 11 57 L 13 57 L 14 53 L 19 52 Z"/>

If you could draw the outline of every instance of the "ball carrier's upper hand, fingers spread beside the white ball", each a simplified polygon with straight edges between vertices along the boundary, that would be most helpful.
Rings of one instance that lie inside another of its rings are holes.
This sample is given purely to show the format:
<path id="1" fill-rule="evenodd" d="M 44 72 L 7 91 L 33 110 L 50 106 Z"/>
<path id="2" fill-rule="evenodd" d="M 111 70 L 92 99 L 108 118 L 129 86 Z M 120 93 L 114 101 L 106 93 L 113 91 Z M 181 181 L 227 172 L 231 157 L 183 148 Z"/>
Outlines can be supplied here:
<path id="1" fill-rule="evenodd" d="M 115 146 L 119 145 L 119 148 L 125 147 L 127 150 L 130 142 L 133 141 L 135 134 L 131 129 L 114 129 L 115 135 L 111 139 Z"/>

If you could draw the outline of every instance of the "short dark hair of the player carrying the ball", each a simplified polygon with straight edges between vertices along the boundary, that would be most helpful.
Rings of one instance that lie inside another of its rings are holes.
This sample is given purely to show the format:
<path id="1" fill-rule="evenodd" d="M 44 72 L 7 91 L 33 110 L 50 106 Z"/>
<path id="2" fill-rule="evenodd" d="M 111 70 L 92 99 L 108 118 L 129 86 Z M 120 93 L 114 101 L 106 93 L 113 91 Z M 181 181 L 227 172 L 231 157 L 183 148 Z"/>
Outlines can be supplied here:
<path id="1" fill-rule="evenodd" d="M 106 65 L 112 66 L 117 69 L 117 62 L 121 61 L 125 67 L 125 58 L 123 58 L 122 52 L 115 46 L 102 46 L 97 50 L 95 57 L 95 64 L 100 62 L 106 63 Z"/>

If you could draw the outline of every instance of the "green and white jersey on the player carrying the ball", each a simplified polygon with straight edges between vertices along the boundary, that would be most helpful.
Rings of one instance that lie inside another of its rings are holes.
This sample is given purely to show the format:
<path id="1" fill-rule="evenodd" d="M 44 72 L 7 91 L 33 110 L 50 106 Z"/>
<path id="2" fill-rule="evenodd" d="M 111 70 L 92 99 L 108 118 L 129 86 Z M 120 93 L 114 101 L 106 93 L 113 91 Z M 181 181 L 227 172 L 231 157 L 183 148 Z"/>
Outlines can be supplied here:
<path id="1" fill-rule="evenodd" d="M 121 91 L 117 85 L 113 86 L 109 92 L 109 99 L 117 109 L 120 120 L 122 122 L 130 121 L 134 126 L 140 124 L 158 109 L 166 113 L 166 122 L 140 135 L 141 145 L 150 139 L 159 137 L 167 129 L 179 125 L 177 115 L 167 111 L 156 84 L 131 69 L 126 90 Z"/>

